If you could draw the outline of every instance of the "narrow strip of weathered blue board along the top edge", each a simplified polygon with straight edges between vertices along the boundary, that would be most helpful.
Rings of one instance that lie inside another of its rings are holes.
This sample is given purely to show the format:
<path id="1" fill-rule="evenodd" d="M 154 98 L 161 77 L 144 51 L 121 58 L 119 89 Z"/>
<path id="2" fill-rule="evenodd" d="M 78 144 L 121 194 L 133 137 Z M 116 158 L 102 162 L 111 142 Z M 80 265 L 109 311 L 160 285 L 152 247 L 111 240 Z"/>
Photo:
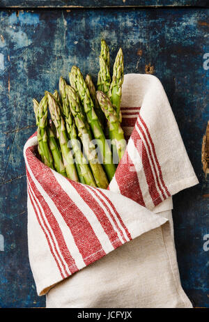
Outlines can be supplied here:
<path id="1" fill-rule="evenodd" d="M 208 0 L 0 0 L 0 8 L 101 8 L 209 6 Z"/>

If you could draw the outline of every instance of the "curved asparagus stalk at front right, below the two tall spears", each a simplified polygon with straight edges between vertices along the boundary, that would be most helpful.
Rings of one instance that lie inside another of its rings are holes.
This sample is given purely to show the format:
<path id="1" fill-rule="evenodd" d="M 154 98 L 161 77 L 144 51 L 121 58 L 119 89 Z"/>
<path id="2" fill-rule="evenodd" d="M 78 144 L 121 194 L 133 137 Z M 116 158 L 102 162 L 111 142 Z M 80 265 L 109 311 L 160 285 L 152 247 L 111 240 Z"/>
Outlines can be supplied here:
<path id="1" fill-rule="evenodd" d="M 120 162 L 126 148 L 126 141 L 123 135 L 123 129 L 121 128 L 121 123 L 107 95 L 102 93 L 102 91 L 97 91 L 96 95 L 100 107 L 108 121 L 109 135 L 111 137 L 111 143 L 113 144 L 114 157 L 115 155 L 118 155 L 118 161 Z"/>

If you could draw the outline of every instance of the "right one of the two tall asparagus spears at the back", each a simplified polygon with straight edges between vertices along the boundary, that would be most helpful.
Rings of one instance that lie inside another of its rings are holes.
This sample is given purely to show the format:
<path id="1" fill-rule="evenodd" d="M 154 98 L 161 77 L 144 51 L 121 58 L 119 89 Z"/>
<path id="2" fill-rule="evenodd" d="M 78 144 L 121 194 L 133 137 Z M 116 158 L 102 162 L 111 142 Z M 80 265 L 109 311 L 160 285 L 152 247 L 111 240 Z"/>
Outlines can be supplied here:
<path id="1" fill-rule="evenodd" d="M 123 78 L 124 78 L 123 51 L 120 48 L 118 50 L 118 54 L 114 62 L 112 82 L 109 89 L 109 98 L 111 100 L 111 103 L 114 105 L 114 108 L 116 109 L 116 113 L 120 121 L 122 121 L 120 106 L 121 106 Z"/>

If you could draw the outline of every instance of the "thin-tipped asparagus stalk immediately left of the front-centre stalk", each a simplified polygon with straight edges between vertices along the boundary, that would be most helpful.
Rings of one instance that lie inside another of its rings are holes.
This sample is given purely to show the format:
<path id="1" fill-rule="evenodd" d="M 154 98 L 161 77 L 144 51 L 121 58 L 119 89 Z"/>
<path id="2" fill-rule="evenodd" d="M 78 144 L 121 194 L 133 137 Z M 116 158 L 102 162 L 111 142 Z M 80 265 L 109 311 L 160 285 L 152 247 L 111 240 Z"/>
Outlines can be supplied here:
<path id="1" fill-rule="evenodd" d="M 80 142 L 77 138 L 75 121 L 72 118 L 72 114 L 70 112 L 70 103 L 65 91 L 66 85 L 67 84 L 65 82 L 65 79 L 63 79 L 63 77 L 60 77 L 59 90 L 61 93 L 61 100 L 63 102 L 63 104 L 61 105 L 61 113 L 63 114 L 66 130 L 68 132 L 68 136 L 72 144 L 73 152 L 75 153 L 77 173 L 82 183 L 86 183 L 86 185 L 92 185 L 93 187 L 96 187 L 95 180 L 93 178 L 90 168 L 88 167 L 86 158 L 84 157 L 81 150 Z"/>

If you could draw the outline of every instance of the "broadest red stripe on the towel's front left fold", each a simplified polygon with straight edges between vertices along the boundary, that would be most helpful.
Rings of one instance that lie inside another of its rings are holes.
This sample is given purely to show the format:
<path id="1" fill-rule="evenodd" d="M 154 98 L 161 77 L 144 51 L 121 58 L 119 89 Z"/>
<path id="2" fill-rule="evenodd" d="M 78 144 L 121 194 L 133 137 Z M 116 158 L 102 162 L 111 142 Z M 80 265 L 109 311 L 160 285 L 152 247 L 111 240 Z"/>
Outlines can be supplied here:
<path id="1" fill-rule="evenodd" d="M 33 157 L 31 156 L 31 153 L 29 153 L 28 149 L 26 150 L 26 158 L 36 180 L 38 180 L 40 185 L 42 185 L 42 188 L 47 192 L 48 196 L 52 201 L 54 201 L 54 204 L 61 213 L 63 220 L 65 220 L 65 223 L 68 225 L 75 240 L 75 244 L 84 259 L 84 263 L 88 265 L 92 261 L 95 261 L 95 256 L 98 258 L 104 256 L 106 253 L 102 249 L 100 240 L 98 240 L 95 235 L 91 224 L 89 224 L 86 216 L 82 213 L 82 210 L 77 207 L 75 202 L 70 199 L 61 185 L 59 185 L 52 170 L 49 167 L 44 167 L 43 169 L 42 165 L 44 164 L 42 164 L 42 162 L 36 162 L 36 169 L 33 169 Z M 41 180 L 38 174 L 42 174 L 43 170 L 45 171 L 45 178 L 44 180 Z M 88 247 L 84 247 L 84 245 L 88 245 Z"/>

